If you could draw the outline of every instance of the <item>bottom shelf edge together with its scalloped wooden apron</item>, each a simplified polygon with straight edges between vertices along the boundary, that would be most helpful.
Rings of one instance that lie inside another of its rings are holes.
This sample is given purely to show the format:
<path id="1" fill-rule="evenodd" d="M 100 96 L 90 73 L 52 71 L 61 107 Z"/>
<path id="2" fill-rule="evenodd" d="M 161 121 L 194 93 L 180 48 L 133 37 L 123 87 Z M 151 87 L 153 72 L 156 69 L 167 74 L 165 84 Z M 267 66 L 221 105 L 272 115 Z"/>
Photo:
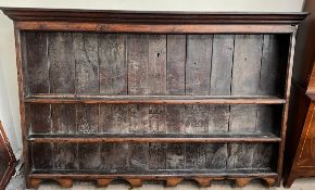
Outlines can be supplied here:
<path id="1" fill-rule="evenodd" d="M 214 180 L 235 180 L 238 187 L 244 187 L 253 179 L 262 179 L 270 187 L 276 185 L 277 173 L 269 169 L 226 169 L 223 170 L 154 170 L 148 174 L 97 174 L 92 170 L 35 170 L 27 179 L 28 188 L 38 188 L 42 180 L 55 180 L 64 188 L 71 188 L 73 180 L 97 181 L 98 187 L 106 187 L 113 180 L 121 179 L 127 181 L 131 188 L 141 187 L 143 181 L 163 180 L 166 187 L 175 187 L 182 180 L 194 180 L 200 187 L 210 187 Z"/>

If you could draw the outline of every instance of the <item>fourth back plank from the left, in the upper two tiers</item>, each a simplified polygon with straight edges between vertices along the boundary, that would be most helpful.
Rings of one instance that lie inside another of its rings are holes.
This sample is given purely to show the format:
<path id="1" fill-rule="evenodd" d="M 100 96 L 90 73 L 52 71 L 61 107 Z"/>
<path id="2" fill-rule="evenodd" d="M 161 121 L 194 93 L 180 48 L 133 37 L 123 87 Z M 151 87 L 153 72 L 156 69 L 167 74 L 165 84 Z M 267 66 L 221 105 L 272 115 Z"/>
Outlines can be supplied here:
<path id="1" fill-rule="evenodd" d="M 99 35 L 100 93 L 127 94 L 126 35 Z M 100 105 L 100 128 L 104 132 L 128 132 L 126 105 Z"/>

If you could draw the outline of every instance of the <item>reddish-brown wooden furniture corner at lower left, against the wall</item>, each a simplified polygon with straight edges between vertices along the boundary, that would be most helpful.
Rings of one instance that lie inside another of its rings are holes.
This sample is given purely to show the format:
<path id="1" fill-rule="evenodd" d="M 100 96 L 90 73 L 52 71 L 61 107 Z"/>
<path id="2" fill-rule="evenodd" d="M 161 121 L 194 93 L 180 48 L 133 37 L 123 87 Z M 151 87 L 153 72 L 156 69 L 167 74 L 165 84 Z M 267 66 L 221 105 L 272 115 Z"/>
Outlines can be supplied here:
<path id="1" fill-rule="evenodd" d="M 4 175 L 1 176 L 0 178 L 0 189 L 4 190 L 11 177 L 15 173 L 16 159 L 10 147 L 9 139 L 7 138 L 4 134 L 4 129 L 3 129 L 1 121 L 0 121 L 0 150 L 1 150 L 1 153 L 4 153 L 4 155 L 2 156 L 5 156 L 9 161 L 8 163 L 4 163 L 4 164 L 8 164 L 7 165 L 8 167 L 7 167 L 7 170 L 4 172 Z M 4 161 L 1 161 L 1 162 L 4 162 Z"/>

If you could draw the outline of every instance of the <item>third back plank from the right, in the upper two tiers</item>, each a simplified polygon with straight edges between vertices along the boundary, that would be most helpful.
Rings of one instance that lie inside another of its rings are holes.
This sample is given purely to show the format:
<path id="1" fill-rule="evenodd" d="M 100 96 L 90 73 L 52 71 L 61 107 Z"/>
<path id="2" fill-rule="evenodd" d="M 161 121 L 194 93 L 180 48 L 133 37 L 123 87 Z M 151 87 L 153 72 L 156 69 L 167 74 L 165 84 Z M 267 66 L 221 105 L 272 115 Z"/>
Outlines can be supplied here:
<path id="1" fill-rule="evenodd" d="M 214 35 L 211 68 L 211 96 L 230 96 L 235 35 Z M 209 105 L 209 132 L 226 132 L 229 105 Z"/>

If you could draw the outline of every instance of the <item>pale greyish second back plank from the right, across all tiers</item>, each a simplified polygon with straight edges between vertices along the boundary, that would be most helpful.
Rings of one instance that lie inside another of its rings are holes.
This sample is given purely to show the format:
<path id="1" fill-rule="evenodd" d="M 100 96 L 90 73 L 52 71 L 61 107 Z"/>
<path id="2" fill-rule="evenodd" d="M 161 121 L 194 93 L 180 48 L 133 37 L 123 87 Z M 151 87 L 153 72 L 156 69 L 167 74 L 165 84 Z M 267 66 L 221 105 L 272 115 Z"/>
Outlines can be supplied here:
<path id="1" fill-rule="evenodd" d="M 259 96 L 262 49 L 262 35 L 236 36 L 231 81 L 232 96 Z M 231 105 L 229 121 L 230 131 L 255 132 L 256 111 L 256 105 Z M 254 144 L 229 144 L 228 168 L 252 167 L 254 150 Z"/>

